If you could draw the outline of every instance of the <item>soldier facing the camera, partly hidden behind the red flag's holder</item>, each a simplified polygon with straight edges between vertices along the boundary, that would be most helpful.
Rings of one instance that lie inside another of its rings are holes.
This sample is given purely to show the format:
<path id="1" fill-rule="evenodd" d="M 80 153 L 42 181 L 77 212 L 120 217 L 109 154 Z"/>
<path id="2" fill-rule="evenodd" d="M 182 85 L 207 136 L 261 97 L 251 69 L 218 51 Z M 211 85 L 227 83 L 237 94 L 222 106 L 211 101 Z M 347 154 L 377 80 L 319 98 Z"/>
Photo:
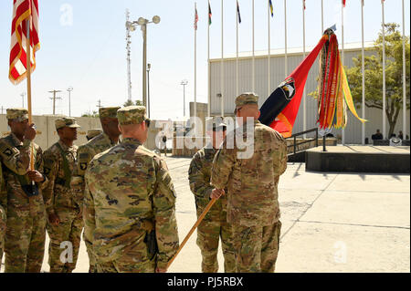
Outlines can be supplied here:
<path id="1" fill-rule="evenodd" d="M 204 212 L 206 205 L 214 197 L 216 189 L 210 184 L 211 167 L 216 151 L 226 137 L 227 126 L 220 123 L 221 119 L 212 119 L 207 123 L 207 134 L 212 139 L 203 149 L 197 151 L 190 163 L 188 180 L 191 192 L 195 194 L 195 208 L 197 217 Z M 218 122 L 218 123 L 216 123 Z M 235 272 L 235 257 L 232 245 L 231 225 L 227 223 L 227 196 L 223 195 L 208 213 L 197 228 L 197 245 L 203 256 L 202 271 L 204 273 L 218 272 L 218 242 L 221 244 L 224 255 L 224 270 L 227 273 Z"/>

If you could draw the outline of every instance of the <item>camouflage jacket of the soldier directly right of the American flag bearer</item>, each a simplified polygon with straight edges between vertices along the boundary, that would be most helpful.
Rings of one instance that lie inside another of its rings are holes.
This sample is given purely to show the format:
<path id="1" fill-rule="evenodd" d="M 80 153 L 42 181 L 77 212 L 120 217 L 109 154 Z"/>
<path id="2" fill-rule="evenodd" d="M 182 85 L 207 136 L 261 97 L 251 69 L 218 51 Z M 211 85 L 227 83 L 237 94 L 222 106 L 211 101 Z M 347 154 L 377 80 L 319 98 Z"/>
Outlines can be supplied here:
<path id="1" fill-rule="evenodd" d="M 64 152 L 64 156 L 61 151 Z M 48 184 L 43 191 L 47 214 L 78 209 L 81 200 L 74 196 L 70 180 L 76 163 L 77 146 L 68 147 L 58 140 L 44 152 L 44 173 Z M 82 197 L 81 197 L 82 198 Z"/>

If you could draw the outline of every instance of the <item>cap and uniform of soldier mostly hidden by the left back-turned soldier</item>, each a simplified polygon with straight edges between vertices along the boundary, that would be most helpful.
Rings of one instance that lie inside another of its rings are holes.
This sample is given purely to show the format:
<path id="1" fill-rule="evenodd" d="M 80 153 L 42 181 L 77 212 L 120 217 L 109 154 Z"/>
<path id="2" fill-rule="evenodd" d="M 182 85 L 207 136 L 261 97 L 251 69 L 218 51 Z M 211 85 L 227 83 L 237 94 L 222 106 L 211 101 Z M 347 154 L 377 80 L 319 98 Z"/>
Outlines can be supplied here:
<path id="1" fill-rule="evenodd" d="M 117 110 L 120 107 L 105 107 L 99 109 L 100 118 L 116 118 Z M 88 133 L 89 136 L 89 133 Z M 84 174 L 89 166 L 90 161 L 100 152 L 107 151 L 117 143 L 112 141 L 110 137 L 102 132 L 98 136 L 91 139 L 89 142 L 79 146 L 77 151 L 77 165 L 71 180 L 71 188 L 77 195 L 84 199 Z M 95 255 L 92 253 L 92 233 L 90 233 L 87 225 L 84 225 L 83 240 L 87 247 L 87 253 L 90 261 L 90 273 L 97 272 Z"/>

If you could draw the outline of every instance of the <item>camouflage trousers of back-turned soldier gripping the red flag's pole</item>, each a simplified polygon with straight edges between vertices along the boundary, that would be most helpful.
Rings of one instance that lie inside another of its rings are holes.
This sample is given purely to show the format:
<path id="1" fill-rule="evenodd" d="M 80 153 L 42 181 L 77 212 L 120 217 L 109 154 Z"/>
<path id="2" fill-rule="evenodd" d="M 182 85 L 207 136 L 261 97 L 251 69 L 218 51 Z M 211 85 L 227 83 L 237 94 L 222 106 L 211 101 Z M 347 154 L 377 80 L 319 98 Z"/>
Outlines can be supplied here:
<path id="1" fill-rule="evenodd" d="M 233 225 L 237 273 L 274 273 L 281 223 L 269 226 Z"/>

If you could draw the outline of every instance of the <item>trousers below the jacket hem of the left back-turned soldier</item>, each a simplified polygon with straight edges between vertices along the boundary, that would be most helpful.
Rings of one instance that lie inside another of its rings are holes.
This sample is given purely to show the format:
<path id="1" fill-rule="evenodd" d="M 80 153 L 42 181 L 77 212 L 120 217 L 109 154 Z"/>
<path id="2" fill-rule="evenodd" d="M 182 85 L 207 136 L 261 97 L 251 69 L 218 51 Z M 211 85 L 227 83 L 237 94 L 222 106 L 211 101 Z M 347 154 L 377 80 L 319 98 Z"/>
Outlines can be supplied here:
<path id="1" fill-rule="evenodd" d="M 153 260 L 147 258 L 146 261 L 135 262 L 134 257 L 139 257 L 140 255 L 140 252 L 134 254 L 134 252 L 129 251 L 116 260 L 109 262 L 101 262 L 98 256 L 96 256 L 97 273 L 154 273 L 156 265 L 155 256 Z"/>

